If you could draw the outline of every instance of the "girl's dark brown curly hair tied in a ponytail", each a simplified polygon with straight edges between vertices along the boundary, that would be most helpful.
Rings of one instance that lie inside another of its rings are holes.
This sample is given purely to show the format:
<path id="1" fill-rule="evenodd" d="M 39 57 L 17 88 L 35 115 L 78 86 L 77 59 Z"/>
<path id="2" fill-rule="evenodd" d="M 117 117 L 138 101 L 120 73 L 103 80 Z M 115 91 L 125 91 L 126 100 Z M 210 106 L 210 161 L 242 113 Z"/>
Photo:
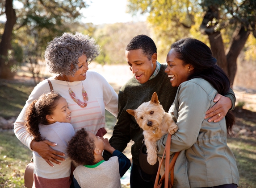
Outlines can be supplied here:
<path id="1" fill-rule="evenodd" d="M 38 100 L 34 100 L 27 108 L 25 113 L 25 127 L 29 135 L 34 137 L 34 140 L 39 142 L 45 140 L 39 132 L 39 123 L 44 125 L 49 124 L 46 115 L 53 114 L 56 108 L 60 94 L 57 92 L 50 92 L 41 95 Z"/>

